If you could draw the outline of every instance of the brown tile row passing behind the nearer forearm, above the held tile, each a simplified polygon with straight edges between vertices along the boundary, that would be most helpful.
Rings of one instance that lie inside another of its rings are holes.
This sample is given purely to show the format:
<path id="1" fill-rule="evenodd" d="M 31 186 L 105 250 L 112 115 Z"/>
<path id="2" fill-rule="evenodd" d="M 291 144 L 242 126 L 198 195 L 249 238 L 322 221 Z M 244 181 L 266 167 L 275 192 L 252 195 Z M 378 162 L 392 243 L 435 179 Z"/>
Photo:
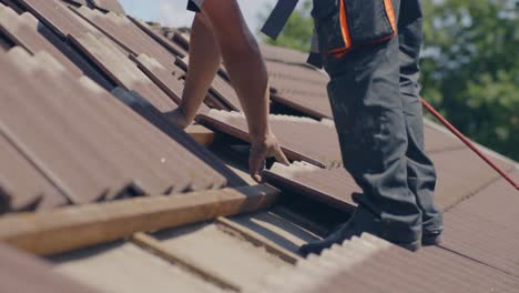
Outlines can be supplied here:
<path id="1" fill-rule="evenodd" d="M 199 115 L 199 121 L 216 131 L 251 141 L 242 113 L 211 110 L 207 114 Z M 342 164 L 340 148 L 333 124 L 288 115 L 271 115 L 269 122 L 289 160 L 305 161 L 322 168 Z"/>

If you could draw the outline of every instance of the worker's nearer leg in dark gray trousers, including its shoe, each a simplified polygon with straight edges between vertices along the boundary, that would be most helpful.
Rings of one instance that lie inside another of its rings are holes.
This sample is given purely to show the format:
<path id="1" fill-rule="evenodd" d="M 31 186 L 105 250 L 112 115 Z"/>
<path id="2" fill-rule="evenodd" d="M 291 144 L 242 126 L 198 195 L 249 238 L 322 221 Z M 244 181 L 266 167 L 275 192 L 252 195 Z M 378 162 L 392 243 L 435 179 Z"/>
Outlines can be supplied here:
<path id="1" fill-rule="evenodd" d="M 348 224 L 322 246 L 337 242 L 337 235 L 338 240 L 340 234 L 350 236 L 350 231 L 370 232 L 411 249 L 420 241 L 421 214 L 407 185 L 407 131 L 398 55 L 398 38 L 393 38 L 325 60 L 343 161 L 364 194 L 356 196 L 359 206 Z M 302 252 L 319 252 L 318 245 L 303 246 Z"/>

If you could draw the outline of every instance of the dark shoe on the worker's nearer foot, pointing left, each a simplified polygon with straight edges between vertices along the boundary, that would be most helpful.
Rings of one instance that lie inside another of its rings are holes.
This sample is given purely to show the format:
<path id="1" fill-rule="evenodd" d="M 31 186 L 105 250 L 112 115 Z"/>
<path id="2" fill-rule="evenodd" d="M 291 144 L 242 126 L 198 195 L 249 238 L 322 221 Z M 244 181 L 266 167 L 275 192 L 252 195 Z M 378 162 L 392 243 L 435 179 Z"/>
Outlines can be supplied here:
<path id="1" fill-rule="evenodd" d="M 384 235 L 391 234 L 389 229 L 390 228 L 383 224 L 376 215 L 365 209 L 357 208 L 352 219 L 347 223 L 343 224 L 336 232 L 322 241 L 316 241 L 301 246 L 299 252 L 303 255 L 312 253 L 320 254 L 323 250 L 329 249 L 334 244 L 342 244 L 345 240 L 353 236 L 360 236 L 363 233 L 369 233 L 386 239 L 409 251 L 418 251 L 421 247 L 419 235 L 411 235 L 411 238 L 408 239 L 411 239 L 413 241 L 409 242 L 396 242 L 385 238 Z"/>

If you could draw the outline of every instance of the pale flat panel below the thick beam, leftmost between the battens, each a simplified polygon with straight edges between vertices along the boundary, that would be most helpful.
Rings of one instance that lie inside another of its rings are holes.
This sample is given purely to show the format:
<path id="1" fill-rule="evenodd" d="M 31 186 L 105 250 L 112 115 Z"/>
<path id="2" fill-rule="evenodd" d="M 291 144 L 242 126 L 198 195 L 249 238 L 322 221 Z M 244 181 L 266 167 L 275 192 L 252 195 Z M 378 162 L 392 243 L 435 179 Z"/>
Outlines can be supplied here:
<path id="1" fill-rule="evenodd" d="M 130 242 L 58 255 L 51 261 L 55 272 L 101 292 L 223 292 Z"/>

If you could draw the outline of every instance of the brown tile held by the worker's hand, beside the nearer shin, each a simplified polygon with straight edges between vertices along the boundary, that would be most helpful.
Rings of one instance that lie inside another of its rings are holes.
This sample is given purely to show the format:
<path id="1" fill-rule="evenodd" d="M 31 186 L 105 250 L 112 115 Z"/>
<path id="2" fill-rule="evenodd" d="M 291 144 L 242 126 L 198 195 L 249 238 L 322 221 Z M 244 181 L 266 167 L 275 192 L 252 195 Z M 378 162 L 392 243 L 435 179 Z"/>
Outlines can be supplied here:
<path id="1" fill-rule="evenodd" d="M 345 212 L 355 210 L 353 193 L 360 189 L 343 168 L 322 169 L 304 162 L 289 166 L 275 163 L 263 172 L 264 179 L 275 186 L 288 189 L 297 194 L 324 202 Z"/>

